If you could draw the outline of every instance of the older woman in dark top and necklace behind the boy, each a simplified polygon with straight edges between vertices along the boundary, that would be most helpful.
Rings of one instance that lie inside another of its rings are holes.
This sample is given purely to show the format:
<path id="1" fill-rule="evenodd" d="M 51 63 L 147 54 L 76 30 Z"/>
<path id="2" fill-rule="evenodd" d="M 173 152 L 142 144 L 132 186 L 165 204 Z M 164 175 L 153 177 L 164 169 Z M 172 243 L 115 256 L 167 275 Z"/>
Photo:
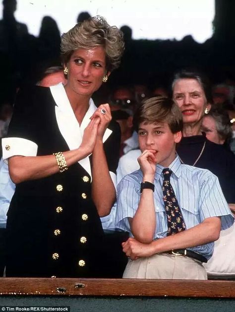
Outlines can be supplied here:
<path id="1" fill-rule="evenodd" d="M 175 75 L 172 90 L 183 115 L 183 137 L 176 147 L 181 162 L 217 175 L 227 202 L 235 203 L 235 156 L 201 132 L 203 117 L 212 103 L 207 79 L 200 73 L 183 70 Z"/>

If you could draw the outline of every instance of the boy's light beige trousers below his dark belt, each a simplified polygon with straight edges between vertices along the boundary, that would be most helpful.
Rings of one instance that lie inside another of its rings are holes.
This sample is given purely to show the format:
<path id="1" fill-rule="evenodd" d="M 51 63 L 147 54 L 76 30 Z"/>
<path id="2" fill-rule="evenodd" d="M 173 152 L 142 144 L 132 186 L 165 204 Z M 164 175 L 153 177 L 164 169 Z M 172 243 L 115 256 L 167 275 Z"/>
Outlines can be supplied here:
<path id="1" fill-rule="evenodd" d="M 207 273 L 200 261 L 167 253 L 128 260 L 123 278 L 152 278 L 179 280 L 207 280 Z"/>

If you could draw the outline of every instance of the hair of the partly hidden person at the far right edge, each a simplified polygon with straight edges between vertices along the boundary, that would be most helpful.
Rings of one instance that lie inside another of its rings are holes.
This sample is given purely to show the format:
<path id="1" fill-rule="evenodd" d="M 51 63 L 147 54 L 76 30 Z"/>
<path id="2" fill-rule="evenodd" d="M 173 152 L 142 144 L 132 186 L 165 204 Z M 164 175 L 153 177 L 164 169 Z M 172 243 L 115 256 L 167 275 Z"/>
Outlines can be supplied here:
<path id="1" fill-rule="evenodd" d="M 210 116 L 215 120 L 216 130 L 225 142 L 229 142 L 232 138 L 232 127 L 229 114 L 224 110 L 212 108 L 205 117 Z"/>

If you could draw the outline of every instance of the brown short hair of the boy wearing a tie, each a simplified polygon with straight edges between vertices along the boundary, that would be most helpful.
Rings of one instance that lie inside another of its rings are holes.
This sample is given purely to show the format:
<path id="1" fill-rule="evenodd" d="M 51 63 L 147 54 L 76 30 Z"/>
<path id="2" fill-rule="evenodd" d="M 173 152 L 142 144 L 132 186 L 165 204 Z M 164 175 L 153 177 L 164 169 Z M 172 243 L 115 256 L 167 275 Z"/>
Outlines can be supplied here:
<path id="1" fill-rule="evenodd" d="M 166 96 L 150 97 L 138 106 L 133 117 L 133 126 L 136 131 L 142 122 L 166 122 L 172 133 L 183 129 L 181 111 L 174 100 Z"/>

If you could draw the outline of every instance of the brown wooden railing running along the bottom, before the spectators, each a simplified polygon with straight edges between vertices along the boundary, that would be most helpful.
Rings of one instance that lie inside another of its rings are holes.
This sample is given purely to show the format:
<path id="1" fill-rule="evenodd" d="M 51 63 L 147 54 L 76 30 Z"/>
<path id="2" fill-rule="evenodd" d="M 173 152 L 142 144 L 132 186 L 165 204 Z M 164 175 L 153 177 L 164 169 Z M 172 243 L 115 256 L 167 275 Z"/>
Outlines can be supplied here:
<path id="1" fill-rule="evenodd" d="M 0 278 L 0 295 L 235 298 L 235 281 Z"/>

